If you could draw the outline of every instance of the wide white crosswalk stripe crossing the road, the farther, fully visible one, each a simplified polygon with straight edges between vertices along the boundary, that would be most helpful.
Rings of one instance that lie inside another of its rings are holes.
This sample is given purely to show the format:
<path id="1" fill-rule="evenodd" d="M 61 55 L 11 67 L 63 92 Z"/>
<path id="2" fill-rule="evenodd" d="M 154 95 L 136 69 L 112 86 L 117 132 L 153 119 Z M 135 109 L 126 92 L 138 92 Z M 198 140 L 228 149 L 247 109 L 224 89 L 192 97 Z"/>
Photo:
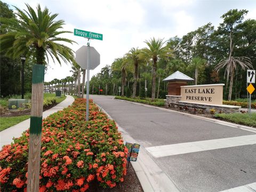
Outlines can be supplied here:
<path id="1" fill-rule="evenodd" d="M 179 154 L 194 153 L 198 151 L 206 151 L 253 144 L 256 144 L 256 134 L 232 138 L 194 141 L 186 143 L 177 143 L 172 145 L 147 147 L 146 149 L 151 155 L 153 155 L 155 158 L 158 158 Z"/>

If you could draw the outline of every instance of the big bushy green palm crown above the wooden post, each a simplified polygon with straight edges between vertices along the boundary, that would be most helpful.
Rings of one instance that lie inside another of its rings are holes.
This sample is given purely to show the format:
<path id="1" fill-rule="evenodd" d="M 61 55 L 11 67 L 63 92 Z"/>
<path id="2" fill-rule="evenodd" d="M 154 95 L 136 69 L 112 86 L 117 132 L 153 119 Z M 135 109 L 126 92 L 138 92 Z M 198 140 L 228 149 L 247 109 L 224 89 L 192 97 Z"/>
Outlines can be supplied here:
<path id="1" fill-rule="evenodd" d="M 52 14 L 45 7 L 41 10 L 38 4 L 33 10 L 26 4 L 28 11 L 17 10 L 17 19 L 1 18 L 3 27 L 8 27 L 9 32 L 1 35 L 1 50 L 7 50 L 6 56 L 18 58 L 20 55 L 33 55 L 39 65 L 45 64 L 45 57 L 49 56 L 61 63 L 62 59 L 66 63 L 74 59 L 73 51 L 59 42 L 74 43 L 74 41 L 57 37 L 60 34 L 72 33 L 71 31 L 61 31 L 65 24 L 63 20 L 54 21 L 58 14 Z"/>

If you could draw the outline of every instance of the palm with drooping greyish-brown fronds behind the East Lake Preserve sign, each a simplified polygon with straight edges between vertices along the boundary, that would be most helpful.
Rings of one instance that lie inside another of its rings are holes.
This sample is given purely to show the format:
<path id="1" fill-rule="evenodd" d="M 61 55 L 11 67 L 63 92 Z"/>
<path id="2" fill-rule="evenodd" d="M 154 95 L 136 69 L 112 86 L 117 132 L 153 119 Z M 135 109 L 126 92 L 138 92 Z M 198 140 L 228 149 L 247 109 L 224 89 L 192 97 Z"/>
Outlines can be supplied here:
<path id="1" fill-rule="evenodd" d="M 230 56 L 228 59 L 222 59 L 215 67 L 217 72 L 219 72 L 220 69 L 225 68 L 224 76 L 227 76 L 227 82 L 230 76 L 228 101 L 231 100 L 234 76 L 238 70 L 238 66 L 241 66 L 243 70 L 246 68 L 253 68 L 250 58 L 233 56 Z"/>

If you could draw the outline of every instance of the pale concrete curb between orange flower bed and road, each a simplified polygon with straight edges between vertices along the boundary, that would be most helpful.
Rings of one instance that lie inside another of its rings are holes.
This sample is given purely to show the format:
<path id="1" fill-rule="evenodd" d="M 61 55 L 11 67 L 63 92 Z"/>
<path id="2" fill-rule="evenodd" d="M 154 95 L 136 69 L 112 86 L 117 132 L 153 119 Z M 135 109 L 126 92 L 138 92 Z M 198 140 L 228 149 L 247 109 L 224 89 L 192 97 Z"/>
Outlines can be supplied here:
<path id="1" fill-rule="evenodd" d="M 95 102 L 94 102 L 95 103 Z M 100 110 L 102 110 L 109 119 L 113 119 L 106 110 L 101 106 L 95 103 Z M 124 140 L 138 143 L 134 140 L 121 126 L 116 123 L 118 130 L 122 133 Z M 137 159 L 137 162 L 131 162 L 133 169 L 140 181 L 141 187 L 145 192 L 151 191 L 161 191 L 161 192 L 179 192 L 175 183 L 168 177 L 167 174 L 163 172 L 162 169 L 158 167 L 154 159 L 147 153 L 146 149 L 140 146 L 140 158 Z"/>

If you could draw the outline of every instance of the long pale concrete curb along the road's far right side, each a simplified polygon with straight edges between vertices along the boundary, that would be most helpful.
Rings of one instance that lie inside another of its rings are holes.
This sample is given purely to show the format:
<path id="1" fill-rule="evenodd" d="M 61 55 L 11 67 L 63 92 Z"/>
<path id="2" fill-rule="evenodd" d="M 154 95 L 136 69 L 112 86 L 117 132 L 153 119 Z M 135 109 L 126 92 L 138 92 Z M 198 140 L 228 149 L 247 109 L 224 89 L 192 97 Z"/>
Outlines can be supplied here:
<path id="1" fill-rule="evenodd" d="M 221 124 L 221 125 L 234 127 L 236 129 L 241 129 L 241 130 L 244 130 L 244 131 L 250 131 L 250 132 L 256 133 L 256 128 L 253 128 L 253 127 L 250 127 L 250 126 L 239 125 L 239 124 L 236 124 L 236 123 L 230 123 L 230 122 L 226 122 L 226 121 L 221 121 L 219 119 L 213 119 L 213 118 L 209 118 L 209 117 L 203 117 L 203 116 L 199 116 L 199 115 L 183 113 L 181 111 L 175 111 L 175 110 L 172 110 L 172 109 L 165 109 L 165 108 L 161 108 L 161 107 L 150 106 L 150 105 L 146 105 L 146 104 L 143 104 L 143 103 L 137 103 L 137 102 L 133 102 L 133 101 L 126 101 L 126 100 L 122 100 L 122 99 L 116 99 L 116 100 L 130 102 L 130 103 L 133 103 L 135 105 L 142 105 L 142 106 L 145 106 L 145 107 L 156 108 L 156 109 L 159 109 L 159 110 L 167 111 L 169 113 L 177 113 L 177 114 L 188 116 L 188 117 L 193 117 L 193 118 L 197 118 L 197 119 L 203 119 L 204 121 L 218 123 L 218 124 Z"/>

